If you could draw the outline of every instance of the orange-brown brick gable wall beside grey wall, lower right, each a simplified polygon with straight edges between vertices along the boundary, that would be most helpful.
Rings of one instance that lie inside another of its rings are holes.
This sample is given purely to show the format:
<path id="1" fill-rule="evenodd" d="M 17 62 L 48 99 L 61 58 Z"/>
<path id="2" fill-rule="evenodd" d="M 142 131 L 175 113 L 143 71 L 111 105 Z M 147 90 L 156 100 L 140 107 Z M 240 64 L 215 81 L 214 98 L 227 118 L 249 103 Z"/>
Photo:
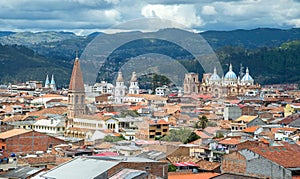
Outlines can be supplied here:
<path id="1" fill-rule="evenodd" d="M 246 159 L 238 152 L 224 155 L 221 166 L 222 173 L 246 173 Z"/>

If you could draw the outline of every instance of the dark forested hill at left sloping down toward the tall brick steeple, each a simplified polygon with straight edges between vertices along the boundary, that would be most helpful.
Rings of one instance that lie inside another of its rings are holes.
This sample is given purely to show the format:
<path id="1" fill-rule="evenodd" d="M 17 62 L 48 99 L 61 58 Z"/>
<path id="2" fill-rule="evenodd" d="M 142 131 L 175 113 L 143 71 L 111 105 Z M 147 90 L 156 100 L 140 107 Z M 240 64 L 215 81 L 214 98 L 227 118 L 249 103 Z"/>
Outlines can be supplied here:
<path id="1" fill-rule="evenodd" d="M 54 74 L 57 84 L 67 84 L 71 65 L 63 67 L 51 62 L 25 46 L 0 45 L 0 83 L 44 81 L 46 74 Z"/>

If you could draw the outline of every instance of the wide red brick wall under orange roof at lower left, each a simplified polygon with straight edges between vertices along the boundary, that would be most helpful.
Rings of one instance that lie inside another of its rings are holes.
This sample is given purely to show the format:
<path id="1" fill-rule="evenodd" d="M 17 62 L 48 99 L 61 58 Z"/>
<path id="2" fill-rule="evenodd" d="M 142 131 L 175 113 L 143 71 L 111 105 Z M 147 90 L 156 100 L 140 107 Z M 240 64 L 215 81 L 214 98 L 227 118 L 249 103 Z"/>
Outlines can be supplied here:
<path id="1" fill-rule="evenodd" d="M 46 151 L 50 144 L 52 146 L 64 143 L 63 140 L 48 136 L 36 131 L 27 132 L 6 139 L 6 152 L 33 153 Z"/>

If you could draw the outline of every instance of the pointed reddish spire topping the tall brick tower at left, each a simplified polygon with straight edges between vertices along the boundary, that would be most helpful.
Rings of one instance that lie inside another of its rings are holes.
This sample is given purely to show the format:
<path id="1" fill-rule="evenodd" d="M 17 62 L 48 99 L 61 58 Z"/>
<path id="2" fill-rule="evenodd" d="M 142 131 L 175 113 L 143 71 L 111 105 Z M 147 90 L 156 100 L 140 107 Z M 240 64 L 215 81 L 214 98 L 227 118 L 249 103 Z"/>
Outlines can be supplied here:
<path id="1" fill-rule="evenodd" d="M 74 61 L 73 71 L 72 71 L 71 80 L 69 84 L 69 90 L 84 92 L 83 77 L 82 77 L 82 72 L 80 69 L 80 63 L 78 58 L 76 58 Z"/>

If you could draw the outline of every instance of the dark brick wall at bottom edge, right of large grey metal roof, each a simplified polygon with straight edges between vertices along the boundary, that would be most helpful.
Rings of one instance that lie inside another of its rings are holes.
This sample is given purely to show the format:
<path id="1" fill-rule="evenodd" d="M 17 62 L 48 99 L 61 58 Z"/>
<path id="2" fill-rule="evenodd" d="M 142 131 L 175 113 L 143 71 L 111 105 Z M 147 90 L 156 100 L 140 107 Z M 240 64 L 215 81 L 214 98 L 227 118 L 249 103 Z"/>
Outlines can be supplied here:
<path id="1" fill-rule="evenodd" d="M 165 162 L 121 162 L 108 170 L 108 177 L 113 176 L 124 168 L 143 170 L 148 174 L 156 176 L 156 178 L 168 178 L 168 164 Z"/>

